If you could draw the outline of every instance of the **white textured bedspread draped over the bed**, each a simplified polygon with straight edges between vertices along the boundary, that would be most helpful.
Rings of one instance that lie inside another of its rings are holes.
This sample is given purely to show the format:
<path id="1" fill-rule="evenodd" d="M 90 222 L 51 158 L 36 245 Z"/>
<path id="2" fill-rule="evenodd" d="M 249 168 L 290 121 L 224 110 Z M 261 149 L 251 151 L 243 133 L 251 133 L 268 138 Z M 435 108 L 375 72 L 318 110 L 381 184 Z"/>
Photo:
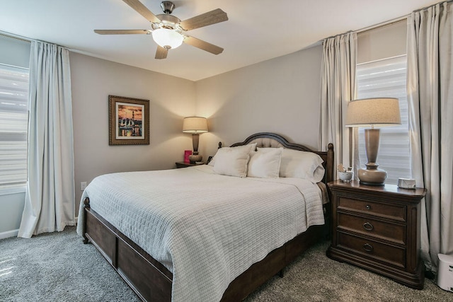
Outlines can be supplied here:
<path id="1" fill-rule="evenodd" d="M 219 301 L 229 283 L 311 225 L 319 187 L 297 178 L 235 178 L 212 167 L 114 173 L 86 187 L 91 209 L 173 272 L 172 301 Z"/>

